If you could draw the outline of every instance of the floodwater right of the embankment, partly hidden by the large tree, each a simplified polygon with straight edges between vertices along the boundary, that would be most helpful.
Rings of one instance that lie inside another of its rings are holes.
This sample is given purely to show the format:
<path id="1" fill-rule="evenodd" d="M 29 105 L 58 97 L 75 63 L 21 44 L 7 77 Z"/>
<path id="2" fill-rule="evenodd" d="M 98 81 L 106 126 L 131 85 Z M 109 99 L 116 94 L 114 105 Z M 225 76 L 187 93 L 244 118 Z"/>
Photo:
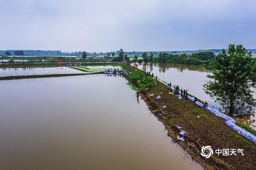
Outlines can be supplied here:
<path id="1" fill-rule="evenodd" d="M 221 106 L 214 102 L 209 95 L 204 93 L 203 85 L 209 79 L 206 77 L 206 69 L 200 65 L 186 65 L 186 64 L 173 64 L 173 63 L 156 63 L 144 64 L 138 63 L 138 68 L 150 73 L 154 76 L 166 81 L 171 82 L 172 85 L 179 85 L 181 89 L 188 90 L 188 93 L 198 97 L 203 101 L 207 101 L 210 107 L 215 109 Z M 256 98 L 256 90 L 254 89 L 254 97 Z M 241 123 L 256 128 L 256 114 L 252 117 L 245 117 L 237 119 Z"/>

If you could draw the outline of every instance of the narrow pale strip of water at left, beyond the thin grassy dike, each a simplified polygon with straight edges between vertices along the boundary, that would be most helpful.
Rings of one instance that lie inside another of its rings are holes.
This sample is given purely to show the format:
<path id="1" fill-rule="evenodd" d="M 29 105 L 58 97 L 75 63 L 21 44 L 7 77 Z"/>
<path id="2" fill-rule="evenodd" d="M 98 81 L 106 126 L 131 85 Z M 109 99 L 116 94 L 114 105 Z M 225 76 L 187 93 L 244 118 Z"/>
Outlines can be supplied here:
<path id="1" fill-rule="evenodd" d="M 69 67 L 0 68 L 0 77 L 15 75 L 76 74 L 84 73 Z"/>

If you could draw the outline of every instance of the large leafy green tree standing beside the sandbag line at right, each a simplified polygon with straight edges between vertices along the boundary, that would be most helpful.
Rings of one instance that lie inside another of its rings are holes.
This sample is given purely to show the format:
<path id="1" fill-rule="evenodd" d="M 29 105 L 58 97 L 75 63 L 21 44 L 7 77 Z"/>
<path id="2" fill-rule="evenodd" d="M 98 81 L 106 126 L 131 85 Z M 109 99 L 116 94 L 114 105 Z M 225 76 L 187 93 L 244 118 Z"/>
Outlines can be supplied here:
<path id="1" fill-rule="evenodd" d="M 230 44 L 228 51 L 215 55 L 207 67 L 212 79 L 204 90 L 230 116 L 251 115 L 256 105 L 253 91 L 256 83 L 256 59 L 242 45 Z"/>

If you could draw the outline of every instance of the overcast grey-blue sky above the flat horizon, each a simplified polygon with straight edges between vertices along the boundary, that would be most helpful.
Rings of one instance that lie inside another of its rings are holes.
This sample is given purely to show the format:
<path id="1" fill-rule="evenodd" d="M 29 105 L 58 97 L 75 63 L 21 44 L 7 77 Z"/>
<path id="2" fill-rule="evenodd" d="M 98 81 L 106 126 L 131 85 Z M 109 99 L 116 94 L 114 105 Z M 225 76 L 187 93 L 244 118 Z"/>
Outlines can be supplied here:
<path id="1" fill-rule="evenodd" d="M 0 49 L 256 48 L 256 0 L 0 0 Z"/>

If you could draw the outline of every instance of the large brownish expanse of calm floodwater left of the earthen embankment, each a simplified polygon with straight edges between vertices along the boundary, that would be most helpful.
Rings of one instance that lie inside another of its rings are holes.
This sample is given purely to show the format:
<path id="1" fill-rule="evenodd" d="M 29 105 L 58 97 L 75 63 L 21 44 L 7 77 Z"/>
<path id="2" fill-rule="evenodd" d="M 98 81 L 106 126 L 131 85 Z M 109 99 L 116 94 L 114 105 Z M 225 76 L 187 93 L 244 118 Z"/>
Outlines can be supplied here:
<path id="1" fill-rule="evenodd" d="M 0 81 L 0 169 L 200 170 L 123 77 Z"/>

